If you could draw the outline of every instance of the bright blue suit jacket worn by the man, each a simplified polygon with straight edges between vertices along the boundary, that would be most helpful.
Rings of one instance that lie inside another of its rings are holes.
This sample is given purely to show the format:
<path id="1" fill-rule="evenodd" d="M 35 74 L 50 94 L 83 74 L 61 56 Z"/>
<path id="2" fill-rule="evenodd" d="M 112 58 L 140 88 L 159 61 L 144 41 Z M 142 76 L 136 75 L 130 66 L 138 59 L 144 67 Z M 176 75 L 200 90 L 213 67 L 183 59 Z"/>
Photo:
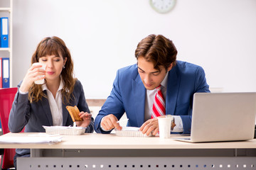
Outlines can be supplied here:
<path id="1" fill-rule="evenodd" d="M 210 92 L 203 68 L 176 61 L 176 66 L 168 74 L 166 114 L 181 116 L 184 134 L 191 132 L 193 94 L 196 92 Z M 137 64 L 119 69 L 111 94 L 95 118 L 95 131 L 109 133 L 101 130 L 101 119 L 113 114 L 119 120 L 124 112 L 129 118 L 128 126 L 141 127 L 145 122 L 145 95 L 146 89 L 139 77 Z"/>

